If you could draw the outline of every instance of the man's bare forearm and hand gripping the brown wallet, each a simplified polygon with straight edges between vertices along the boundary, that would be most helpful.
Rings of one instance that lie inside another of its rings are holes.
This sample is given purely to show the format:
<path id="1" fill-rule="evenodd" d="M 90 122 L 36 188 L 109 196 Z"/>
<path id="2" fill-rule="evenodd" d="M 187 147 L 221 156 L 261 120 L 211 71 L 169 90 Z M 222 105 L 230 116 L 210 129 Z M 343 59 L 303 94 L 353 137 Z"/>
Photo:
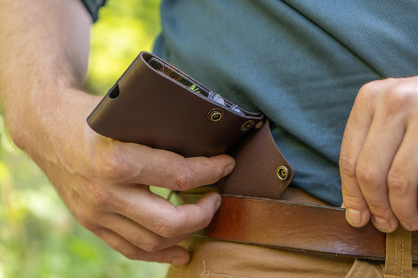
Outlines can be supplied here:
<path id="1" fill-rule="evenodd" d="M 77 220 L 115 250 L 185 264 L 189 254 L 176 244 L 210 222 L 220 197 L 175 207 L 148 186 L 213 183 L 231 172 L 233 158 L 183 158 L 91 131 L 86 116 L 100 97 L 80 89 L 90 25 L 78 0 L 0 2 L 0 99 L 10 136 Z"/>

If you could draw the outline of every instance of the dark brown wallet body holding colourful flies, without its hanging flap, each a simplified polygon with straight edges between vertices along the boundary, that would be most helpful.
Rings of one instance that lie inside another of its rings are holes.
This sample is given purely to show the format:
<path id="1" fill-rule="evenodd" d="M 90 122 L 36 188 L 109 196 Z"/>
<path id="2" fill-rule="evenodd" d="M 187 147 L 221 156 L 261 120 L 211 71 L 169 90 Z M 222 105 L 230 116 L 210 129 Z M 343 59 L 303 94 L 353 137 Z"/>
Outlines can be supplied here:
<path id="1" fill-rule="evenodd" d="M 183 156 L 224 154 L 265 122 L 164 60 L 141 52 L 87 118 L 103 136 Z"/>

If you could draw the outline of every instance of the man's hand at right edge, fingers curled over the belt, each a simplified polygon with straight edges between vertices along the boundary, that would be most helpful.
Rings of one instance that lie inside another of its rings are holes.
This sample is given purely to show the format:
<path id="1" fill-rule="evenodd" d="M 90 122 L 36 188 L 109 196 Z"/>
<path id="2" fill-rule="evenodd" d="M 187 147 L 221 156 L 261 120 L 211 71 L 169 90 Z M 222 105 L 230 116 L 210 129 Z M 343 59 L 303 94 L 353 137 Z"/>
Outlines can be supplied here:
<path id="1" fill-rule="evenodd" d="M 348 222 L 418 230 L 418 76 L 359 90 L 341 146 Z"/>

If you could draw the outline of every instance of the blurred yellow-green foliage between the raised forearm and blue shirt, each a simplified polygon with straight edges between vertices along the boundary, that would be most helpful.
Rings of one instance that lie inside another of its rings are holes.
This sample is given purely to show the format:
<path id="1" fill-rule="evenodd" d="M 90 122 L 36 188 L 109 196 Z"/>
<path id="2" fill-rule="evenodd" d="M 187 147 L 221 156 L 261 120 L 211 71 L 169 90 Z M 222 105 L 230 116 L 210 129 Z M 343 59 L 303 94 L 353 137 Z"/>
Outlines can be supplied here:
<path id="1" fill-rule="evenodd" d="M 159 0 L 109 1 L 93 27 L 88 85 L 109 90 L 140 51 L 150 51 L 160 32 Z"/>

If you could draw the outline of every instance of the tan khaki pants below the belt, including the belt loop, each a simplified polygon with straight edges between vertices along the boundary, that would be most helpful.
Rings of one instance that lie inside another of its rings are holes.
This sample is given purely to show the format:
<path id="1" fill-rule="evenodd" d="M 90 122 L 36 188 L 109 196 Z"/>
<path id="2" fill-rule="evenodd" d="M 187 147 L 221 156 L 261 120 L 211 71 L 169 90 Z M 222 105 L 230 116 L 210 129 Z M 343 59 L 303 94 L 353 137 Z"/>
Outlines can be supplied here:
<path id="1" fill-rule="evenodd" d="M 410 237 L 408 242 L 404 231 L 397 233 L 388 237 L 386 266 L 378 261 L 192 238 L 185 243 L 192 261 L 185 267 L 172 265 L 167 277 L 418 277 L 418 266 L 410 263 Z"/>

